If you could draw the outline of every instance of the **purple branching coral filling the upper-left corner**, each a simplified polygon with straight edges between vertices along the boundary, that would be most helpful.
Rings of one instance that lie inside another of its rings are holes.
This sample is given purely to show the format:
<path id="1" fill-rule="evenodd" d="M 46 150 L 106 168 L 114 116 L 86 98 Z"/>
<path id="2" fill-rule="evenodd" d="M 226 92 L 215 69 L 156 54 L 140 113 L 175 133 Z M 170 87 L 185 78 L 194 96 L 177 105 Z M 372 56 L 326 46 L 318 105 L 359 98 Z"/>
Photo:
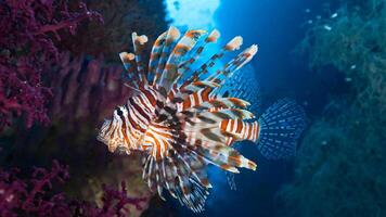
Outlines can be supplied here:
<path id="1" fill-rule="evenodd" d="M 100 14 L 67 1 L 21 0 L 0 2 L 0 131 L 12 117 L 24 115 L 25 124 L 48 123 L 47 104 L 52 95 L 42 76 L 59 62 L 54 40 L 64 29 L 75 34 L 83 20 Z"/>

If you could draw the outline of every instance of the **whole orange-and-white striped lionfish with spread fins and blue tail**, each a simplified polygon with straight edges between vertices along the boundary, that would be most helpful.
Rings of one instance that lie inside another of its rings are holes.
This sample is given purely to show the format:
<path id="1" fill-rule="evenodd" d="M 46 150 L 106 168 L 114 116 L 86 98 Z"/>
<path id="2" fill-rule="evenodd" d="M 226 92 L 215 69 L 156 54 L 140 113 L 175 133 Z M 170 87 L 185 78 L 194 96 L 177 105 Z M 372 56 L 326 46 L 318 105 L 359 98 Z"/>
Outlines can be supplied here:
<path id="1" fill-rule="evenodd" d="M 142 152 L 149 188 L 162 199 L 167 190 L 193 212 L 204 209 L 211 188 L 208 165 L 229 173 L 256 169 L 232 148 L 235 142 L 249 140 L 267 158 L 282 158 L 294 154 L 305 125 L 301 107 L 292 100 L 280 100 L 257 118 L 246 110 L 248 101 L 231 97 L 243 80 L 227 79 L 252 60 L 257 46 L 222 64 L 226 53 L 240 49 L 237 36 L 204 60 L 204 50 L 219 36 L 216 29 L 198 29 L 181 37 L 170 27 L 155 40 L 145 67 L 141 54 L 147 37 L 133 33 L 133 53 L 119 56 L 134 93 L 105 119 L 98 136 L 111 152 Z"/>

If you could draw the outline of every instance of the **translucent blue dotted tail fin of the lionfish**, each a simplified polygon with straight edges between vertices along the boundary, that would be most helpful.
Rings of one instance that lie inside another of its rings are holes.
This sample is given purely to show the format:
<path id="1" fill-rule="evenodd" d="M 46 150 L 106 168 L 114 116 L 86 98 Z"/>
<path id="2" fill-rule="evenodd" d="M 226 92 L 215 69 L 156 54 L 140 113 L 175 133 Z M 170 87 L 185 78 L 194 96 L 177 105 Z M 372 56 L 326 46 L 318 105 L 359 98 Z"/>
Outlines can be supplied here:
<path id="1" fill-rule="evenodd" d="M 294 100 L 282 99 L 259 118 L 258 149 L 269 159 L 286 158 L 296 152 L 296 140 L 304 130 L 305 112 Z"/>

